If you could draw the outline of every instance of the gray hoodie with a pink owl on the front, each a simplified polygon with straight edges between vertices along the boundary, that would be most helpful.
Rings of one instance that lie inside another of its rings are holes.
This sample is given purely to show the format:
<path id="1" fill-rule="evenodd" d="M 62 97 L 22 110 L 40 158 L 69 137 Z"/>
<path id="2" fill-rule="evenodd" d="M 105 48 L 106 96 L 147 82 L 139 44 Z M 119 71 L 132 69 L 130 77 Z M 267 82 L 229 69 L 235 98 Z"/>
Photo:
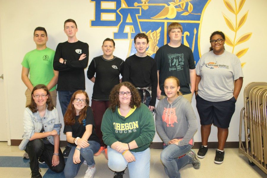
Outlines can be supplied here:
<path id="1" fill-rule="evenodd" d="M 187 99 L 178 96 L 169 104 L 166 97 L 158 102 L 156 130 L 166 145 L 171 139 L 182 139 L 178 146 L 193 145 L 197 129 L 196 115 Z"/>

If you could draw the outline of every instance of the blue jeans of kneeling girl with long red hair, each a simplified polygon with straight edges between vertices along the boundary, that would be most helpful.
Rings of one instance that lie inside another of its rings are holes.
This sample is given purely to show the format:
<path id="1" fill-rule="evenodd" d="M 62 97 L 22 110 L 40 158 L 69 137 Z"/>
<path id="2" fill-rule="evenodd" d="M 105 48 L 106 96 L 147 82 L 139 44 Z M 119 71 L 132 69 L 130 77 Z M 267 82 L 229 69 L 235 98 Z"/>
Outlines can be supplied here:
<path id="1" fill-rule="evenodd" d="M 69 152 L 69 157 L 66 161 L 66 165 L 64 169 L 64 175 L 66 178 L 75 177 L 77 173 L 79 172 L 79 169 L 84 160 L 86 160 L 88 167 L 92 167 L 95 165 L 94 153 L 98 152 L 98 150 L 100 149 L 100 144 L 95 141 L 88 141 L 88 143 L 90 144 L 89 147 L 81 148 L 80 150 L 81 162 L 79 164 L 73 163 L 73 155 L 74 155 L 76 146 L 71 147 L 71 151 Z"/>

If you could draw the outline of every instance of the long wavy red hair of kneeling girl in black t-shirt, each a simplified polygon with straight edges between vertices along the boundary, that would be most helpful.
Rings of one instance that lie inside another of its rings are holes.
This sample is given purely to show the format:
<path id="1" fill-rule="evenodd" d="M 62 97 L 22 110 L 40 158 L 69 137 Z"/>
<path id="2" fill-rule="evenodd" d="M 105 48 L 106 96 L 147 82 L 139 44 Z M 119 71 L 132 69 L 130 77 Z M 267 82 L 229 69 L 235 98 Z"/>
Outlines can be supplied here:
<path id="1" fill-rule="evenodd" d="M 67 107 L 67 111 L 66 114 L 64 115 L 64 124 L 65 125 L 74 125 L 75 123 L 75 117 L 76 117 L 76 110 L 74 108 L 74 105 L 72 104 L 72 102 L 75 102 L 75 96 L 77 94 L 84 94 L 85 96 L 85 100 L 86 100 L 86 105 L 85 107 L 79 112 L 79 123 L 82 124 L 82 120 L 84 120 L 86 118 L 86 110 L 89 106 L 89 97 L 87 95 L 87 93 L 83 90 L 77 90 L 73 93 L 73 95 L 71 96 L 71 100 L 69 102 L 69 105 Z"/>

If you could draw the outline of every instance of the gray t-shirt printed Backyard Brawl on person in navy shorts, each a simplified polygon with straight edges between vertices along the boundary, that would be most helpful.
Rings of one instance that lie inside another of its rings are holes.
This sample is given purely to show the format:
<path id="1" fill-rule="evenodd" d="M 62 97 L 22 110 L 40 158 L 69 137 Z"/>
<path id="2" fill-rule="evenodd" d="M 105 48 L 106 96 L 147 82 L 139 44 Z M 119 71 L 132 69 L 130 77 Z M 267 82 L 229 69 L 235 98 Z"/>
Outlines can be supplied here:
<path id="1" fill-rule="evenodd" d="M 244 77 L 239 58 L 227 51 L 215 55 L 209 51 L 202 55 L 196 65 L 201 76 L 198 95 L 212 102 L 226 101 L 233 97 L 234 81 Z"/>

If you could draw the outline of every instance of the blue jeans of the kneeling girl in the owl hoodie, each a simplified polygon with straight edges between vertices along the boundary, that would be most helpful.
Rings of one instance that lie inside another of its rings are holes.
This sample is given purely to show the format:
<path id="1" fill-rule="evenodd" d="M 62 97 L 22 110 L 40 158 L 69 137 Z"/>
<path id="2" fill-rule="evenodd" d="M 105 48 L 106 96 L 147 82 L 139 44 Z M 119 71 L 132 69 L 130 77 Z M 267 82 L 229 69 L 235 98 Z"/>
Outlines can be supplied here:
<path id="1" fill-rule="evenodd" d="M 164 165 L 166 174 L 168 174 L 170 178 L 180 178 L 181 174 L 179 170 L 187 164 L 193 163 L 193 159 L 190 156 L 185 155 L 192 147 L 193 145 L 190 144 L 182 147 L 177 146 L 176 144 L 163 146 L 163 151 L 160 153 L 160 160 Z M 178 158 L 182 155 L 185 156 Z"/>

